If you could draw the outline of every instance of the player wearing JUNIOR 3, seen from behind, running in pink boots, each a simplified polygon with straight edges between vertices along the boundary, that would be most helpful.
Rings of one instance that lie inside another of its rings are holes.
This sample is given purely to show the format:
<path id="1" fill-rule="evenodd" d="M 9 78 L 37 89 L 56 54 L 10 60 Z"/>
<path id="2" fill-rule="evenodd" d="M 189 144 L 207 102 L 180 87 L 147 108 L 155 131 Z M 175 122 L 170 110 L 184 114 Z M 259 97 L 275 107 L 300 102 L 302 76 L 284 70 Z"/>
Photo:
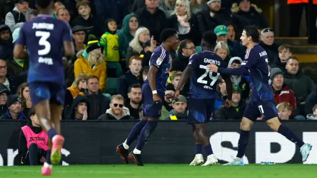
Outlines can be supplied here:
<path id="1" fill-rule="evenodd" d="M 64 137 L 60 135 L 60 118 L 66 86 L 62 57 L 72 57 L 74 47 L 70 27 L 63 21 L 53 19 L 53 0 L 37 0 L 38 17 L 25 22 L 16 41 L 13 55 L 24 59 L 27 47 L 30 68 L 28 85 L 32 105 L 41 127 L 49 136 L 49 150 L 42 175 L 52 172 L 52 164 L 61 160 Z M 53 126 L 54 125 L 54 126 Z"/>

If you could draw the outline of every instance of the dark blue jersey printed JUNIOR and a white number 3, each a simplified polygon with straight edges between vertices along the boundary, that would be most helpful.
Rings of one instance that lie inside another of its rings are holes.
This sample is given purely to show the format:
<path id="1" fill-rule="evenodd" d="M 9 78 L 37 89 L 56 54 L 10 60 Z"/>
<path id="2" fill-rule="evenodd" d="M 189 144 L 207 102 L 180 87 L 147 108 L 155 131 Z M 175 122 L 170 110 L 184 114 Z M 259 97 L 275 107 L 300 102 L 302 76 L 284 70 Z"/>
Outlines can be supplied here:
<path id="1" fill-rule="evenodd" d="M 40 14 L 22 25 L 16 44 L 26 46 L 29 54 L 28 83 L 65 83 L 64 41 L 72 41 L 71 29 L 52 15 Z"/>

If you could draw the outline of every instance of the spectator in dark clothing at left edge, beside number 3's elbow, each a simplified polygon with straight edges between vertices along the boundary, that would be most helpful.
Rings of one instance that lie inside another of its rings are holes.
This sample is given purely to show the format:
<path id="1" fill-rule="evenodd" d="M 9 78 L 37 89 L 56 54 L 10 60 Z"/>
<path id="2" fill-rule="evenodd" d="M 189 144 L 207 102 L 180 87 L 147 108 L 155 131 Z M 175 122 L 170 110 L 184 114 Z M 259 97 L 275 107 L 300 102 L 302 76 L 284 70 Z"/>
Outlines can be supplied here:
<path id="1" fill-rule="evenodd" d="M 13 58 L 12 33 L 9 26 L 0 25 L 0 59 Z"/>

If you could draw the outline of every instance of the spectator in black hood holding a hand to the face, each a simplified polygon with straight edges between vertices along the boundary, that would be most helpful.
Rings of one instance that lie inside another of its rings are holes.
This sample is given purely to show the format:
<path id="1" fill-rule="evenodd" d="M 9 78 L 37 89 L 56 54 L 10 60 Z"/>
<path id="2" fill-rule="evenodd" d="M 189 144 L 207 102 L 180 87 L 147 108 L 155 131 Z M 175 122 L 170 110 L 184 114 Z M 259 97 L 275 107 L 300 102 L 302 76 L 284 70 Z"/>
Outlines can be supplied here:
<path id="1" fill-rule="evenodd" d="M 67 120 L 90 120 L 88 119 L 89 104 L 86 101 L 86 98 L 82 95 L 77 95 L 71 107 L 69 108 L 69 114 L 65 119 Z"/>

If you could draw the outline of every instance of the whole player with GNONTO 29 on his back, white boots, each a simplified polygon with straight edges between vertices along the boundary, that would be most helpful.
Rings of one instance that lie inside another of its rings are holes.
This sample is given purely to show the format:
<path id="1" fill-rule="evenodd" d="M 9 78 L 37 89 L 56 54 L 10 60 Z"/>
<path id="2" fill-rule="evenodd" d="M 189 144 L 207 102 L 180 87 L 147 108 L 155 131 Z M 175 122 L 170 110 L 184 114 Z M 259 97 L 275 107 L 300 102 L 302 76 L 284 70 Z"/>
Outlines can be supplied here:
<path id="1" fill-rule="evenodd" d="M 216 40 L 216 34 L 211 31 L 208 31 L 203 35 L 203 52 L 196 53 L 190 57 L 189 63 L 180 77 L 174 94 L 174 99 L 177 100 L 180 89 L 191 76 L 188 102 L 188 123 L 192 124 L 193 128 L 196 156 L 190 163 L 190 166 L 197 166 L 204 163 L 202 147 L 204 147 L 204 150 L 207 154 L 207 161 L 202 166 L 209 166 L 218 163 L 218 159 L 212 152 L 209 141 L 210 136 L 208 135 L 207 131 L 207 122 L 211 118 L 217 80 L 220 76 L 219 73 L 210 72 L 207 69 L 207 65 L 213 63 L 219 67 L 226 68 L 226 63 L 219 56 L 213 53 Z M 226 82 L 226 88 L 228 92 L 228 101 L 226 102 L 225 106 L 230 107 L 232 97 L 232 81 L 230 75 L 222 74 L 221 76 Z"/>

